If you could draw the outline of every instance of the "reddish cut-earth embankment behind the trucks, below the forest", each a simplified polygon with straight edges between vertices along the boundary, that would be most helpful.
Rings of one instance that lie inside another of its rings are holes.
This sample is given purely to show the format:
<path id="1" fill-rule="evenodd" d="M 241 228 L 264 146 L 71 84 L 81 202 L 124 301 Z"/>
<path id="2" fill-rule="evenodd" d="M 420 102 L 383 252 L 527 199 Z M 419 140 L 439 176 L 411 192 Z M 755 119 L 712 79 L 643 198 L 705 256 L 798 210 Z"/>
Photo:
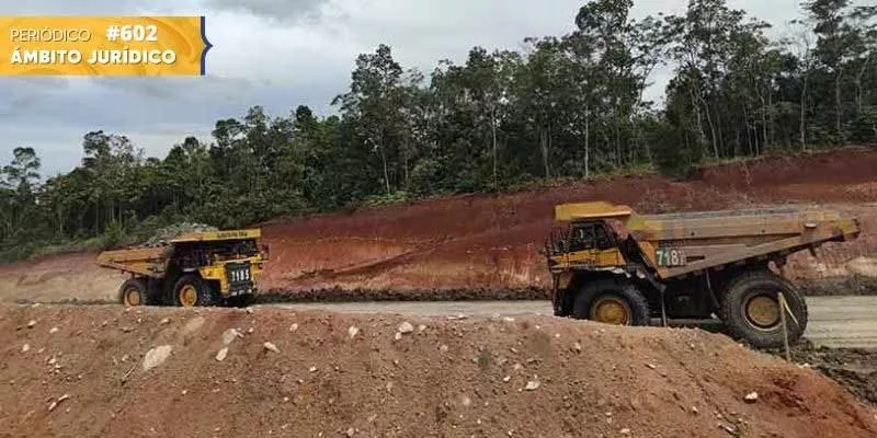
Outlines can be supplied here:
<path id="1" fill-rule="evenodd" d="M 863 235 L 791 257 L 787 275 L 811 293 L 877 290 L 877 151 L 845 149 L 710 168 L 699 178 L 658 175 L 572 182 L 262 224 L 271 262 L 264 291 L 319 298 L 545 297 L 539 254 L 556 204 L 610 200 L 640 212 L 821 204 L 862 220 Z M 0 301 L 114 300 L 124 276 L 94 254 L 0 266 Z M 852 264 L 851 261 L 854 261 Z M 440 290 L 440 292 L 435 292 Z M 534 295 L 535 293 L 535 295 Z"/>

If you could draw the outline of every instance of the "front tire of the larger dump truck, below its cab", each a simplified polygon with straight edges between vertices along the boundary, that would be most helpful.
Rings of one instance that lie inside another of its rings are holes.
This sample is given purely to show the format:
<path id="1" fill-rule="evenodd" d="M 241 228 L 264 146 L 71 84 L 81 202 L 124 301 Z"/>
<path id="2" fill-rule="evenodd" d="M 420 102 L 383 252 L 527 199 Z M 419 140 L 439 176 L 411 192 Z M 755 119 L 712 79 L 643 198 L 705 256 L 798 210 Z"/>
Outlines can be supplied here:
<path id="1" fill-rule="evenodd" d="M 572 307 L 578 320 L 615 325 L 649 325 L 649 302 L 634 285 L 625 280 L 603 279 L 586 284 Z"/>

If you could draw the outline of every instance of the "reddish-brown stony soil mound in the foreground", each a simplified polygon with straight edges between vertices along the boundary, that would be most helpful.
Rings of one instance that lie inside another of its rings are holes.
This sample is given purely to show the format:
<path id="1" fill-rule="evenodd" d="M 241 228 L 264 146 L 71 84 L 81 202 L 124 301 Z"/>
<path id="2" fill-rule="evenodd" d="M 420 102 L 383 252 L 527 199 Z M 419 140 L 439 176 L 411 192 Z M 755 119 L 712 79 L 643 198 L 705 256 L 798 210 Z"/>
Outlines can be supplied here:
<path id="1" fill-rule="evenodd" d="M 0 437 L 877 436 L 877 411 L 835 382 L 721 335 L 403 322 L 0 307 Z"/>

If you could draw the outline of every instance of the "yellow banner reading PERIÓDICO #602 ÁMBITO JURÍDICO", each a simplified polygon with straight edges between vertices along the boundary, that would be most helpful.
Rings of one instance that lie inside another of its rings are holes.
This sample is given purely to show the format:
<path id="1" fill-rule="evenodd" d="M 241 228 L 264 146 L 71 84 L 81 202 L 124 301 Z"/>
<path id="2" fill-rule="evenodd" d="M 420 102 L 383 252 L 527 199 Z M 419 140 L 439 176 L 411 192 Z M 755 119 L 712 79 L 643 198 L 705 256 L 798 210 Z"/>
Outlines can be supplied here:
<path id="1" fill-rule="evenodd" d="M 203 16 L 0 16 L 0 74 L 197 76 Z"/>

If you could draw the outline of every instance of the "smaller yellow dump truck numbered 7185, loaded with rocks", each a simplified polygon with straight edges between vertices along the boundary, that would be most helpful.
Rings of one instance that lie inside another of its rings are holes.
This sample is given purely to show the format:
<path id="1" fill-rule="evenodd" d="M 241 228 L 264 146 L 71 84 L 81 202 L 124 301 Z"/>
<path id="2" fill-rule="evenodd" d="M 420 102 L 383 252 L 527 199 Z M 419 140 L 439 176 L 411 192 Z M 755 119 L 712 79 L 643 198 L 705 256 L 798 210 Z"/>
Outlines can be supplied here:
<path id="1" fill-rule="evenodd" d="M 98 264 L 129 273 L 125 306 L 247 306 L 266 260 L 260 230 L 192 232 L 155 247 L 105 251 Z"/>

